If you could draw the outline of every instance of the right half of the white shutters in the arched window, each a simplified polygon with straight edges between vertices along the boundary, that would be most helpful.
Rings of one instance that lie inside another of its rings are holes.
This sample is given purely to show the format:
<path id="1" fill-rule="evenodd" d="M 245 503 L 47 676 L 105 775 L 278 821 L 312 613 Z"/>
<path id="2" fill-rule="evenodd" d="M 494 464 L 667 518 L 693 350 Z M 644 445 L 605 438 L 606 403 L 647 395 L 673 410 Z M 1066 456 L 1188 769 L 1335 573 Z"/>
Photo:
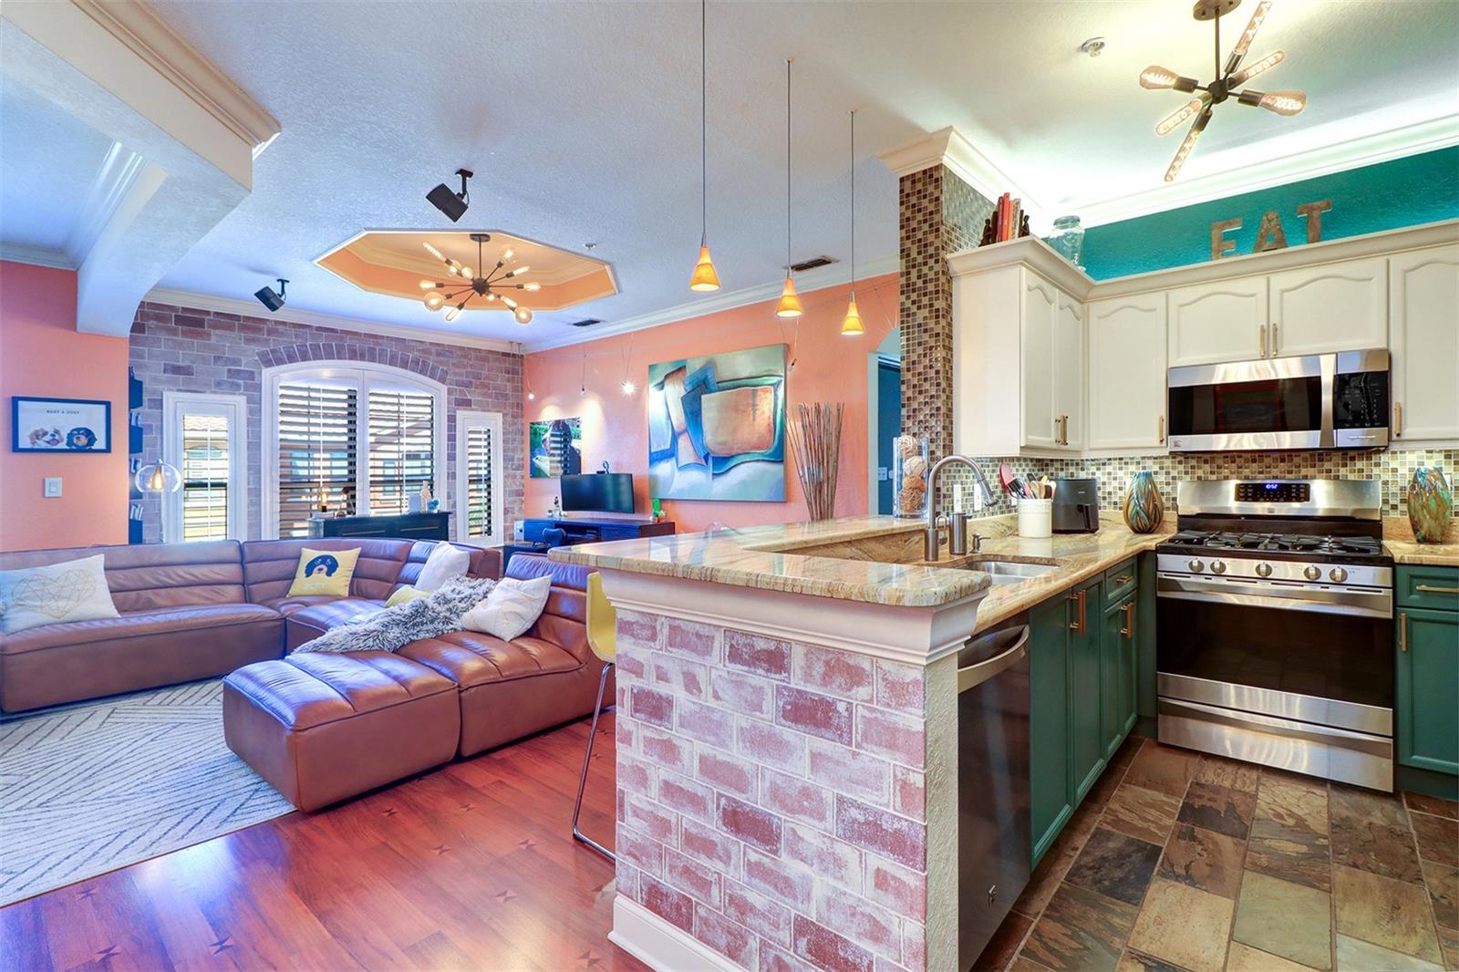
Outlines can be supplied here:
<path id="1" fill-rule="evenodd" d="M 369 393 L 369 509 L 406 512 L 406 498 L 435 489 L 435 396 L 422 391 Z"/>

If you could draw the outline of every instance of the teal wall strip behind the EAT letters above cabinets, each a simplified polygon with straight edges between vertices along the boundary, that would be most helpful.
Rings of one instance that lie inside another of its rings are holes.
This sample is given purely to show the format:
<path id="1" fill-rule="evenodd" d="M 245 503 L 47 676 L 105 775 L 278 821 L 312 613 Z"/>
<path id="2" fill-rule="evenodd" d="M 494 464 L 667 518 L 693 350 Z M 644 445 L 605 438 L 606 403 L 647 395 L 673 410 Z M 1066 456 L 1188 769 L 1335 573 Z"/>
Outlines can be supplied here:
<path id="1" fill-rule="evenodd" d="M 1091 277 L 1106 280 L 1208 263 L 1211 223 L 1237 216 L 1242 228 L 1226 236 L 1236 241 L 1231 255 L 1249 254 L 1262 216 L 1271 210 L 1281 216 L 1287 244 L 1299 247 L 1307 239 L 1307 220 L 1297 215 L 1297 206 L 1323 198 L 1332 200 L 1332 209 L 1322 215 L 1323 239 L 1459 217 L 1459 146 L 1090 226 L 1084 266 Z"/>

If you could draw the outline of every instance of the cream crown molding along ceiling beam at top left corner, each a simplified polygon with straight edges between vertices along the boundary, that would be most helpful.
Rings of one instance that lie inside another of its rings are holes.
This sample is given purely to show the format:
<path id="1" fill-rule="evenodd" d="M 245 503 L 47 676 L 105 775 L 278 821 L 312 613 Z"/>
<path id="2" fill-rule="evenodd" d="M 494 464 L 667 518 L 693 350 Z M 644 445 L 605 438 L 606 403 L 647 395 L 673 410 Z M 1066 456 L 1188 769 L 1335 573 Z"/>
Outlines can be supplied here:
<path id="1" fill-rule="evenodd" d="M 282 130 L 279 121 L 242 88 L 198 54 L 168 23 L 139 0 L 70 0 L 133 54 L 172 82 L 188 98 L 254 149 L 267 147 Z"/>

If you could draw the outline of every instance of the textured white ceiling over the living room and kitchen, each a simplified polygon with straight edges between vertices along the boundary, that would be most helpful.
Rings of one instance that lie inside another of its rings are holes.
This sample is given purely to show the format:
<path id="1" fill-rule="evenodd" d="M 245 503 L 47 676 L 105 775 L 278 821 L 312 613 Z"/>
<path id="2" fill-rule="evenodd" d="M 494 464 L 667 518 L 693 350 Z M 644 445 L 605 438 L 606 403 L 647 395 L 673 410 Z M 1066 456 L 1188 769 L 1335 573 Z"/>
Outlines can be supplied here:
<path id="1" fill-rule="evenodd" d="M 457 229 L 595 242 L 622 292 L 528 328 L 463 314 L 463 331 L 559 342 L 591 336 L 566 325 L 578 317 L 611 323 L 693 299 L 697 3 L 153 6 L 283 126 L 252 196 L 160 286 L 247 298 L 283 276 L 290 306 L 439 327 L 419 302 L 362 293 L 311 261 L 366 226 L 449 226 L 425 193 L 464 165 L 477 178 Z M 1226 19 L 1223 48 L 1253 6 Z M 1078 45 L 1094 35 L 1107 48 L 1088 58 Z M 950 124 L 1045 209 L 1158 191 L 1179 134 L 1160 140 L 1153 127 L 1179 96 L 1135 77 L 1163 63 L 1207 80 L 1211 41 L 1185 0 L 711 3 L 709 238 L 725 290 L 782 273 L 786 55 L 792 257 L 849 255 L 855 107 L 867 261 L 897 250 L 896 178 L 877 155 Z M 1277 0 L 1253 54 L 1277 47 L 1287 63 L 1262 82 L 1306 89 L 1307 111 L 1224 105 L 1182 182 L 1436 118 L 1459 131 L 1459 3 Z"/>

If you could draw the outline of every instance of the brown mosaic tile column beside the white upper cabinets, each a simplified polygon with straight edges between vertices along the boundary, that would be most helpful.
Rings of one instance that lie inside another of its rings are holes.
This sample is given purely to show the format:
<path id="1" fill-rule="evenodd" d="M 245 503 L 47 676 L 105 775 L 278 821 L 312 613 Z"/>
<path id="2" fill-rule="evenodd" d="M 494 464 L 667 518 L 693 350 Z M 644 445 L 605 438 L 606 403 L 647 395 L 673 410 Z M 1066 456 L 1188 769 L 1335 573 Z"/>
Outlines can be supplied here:
<path id="1" fill-rule="evenodd" d="M 943 163 L 902 177 L 902 431 L 953 451 L 953 277 L 947 257 L 976 247 L 994 204 Z"/>

